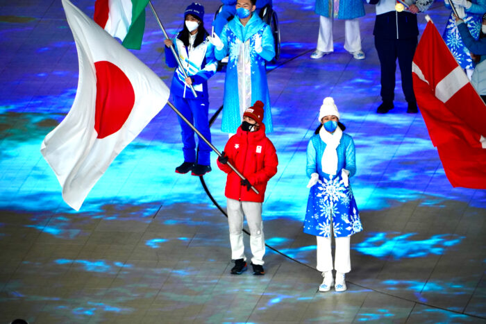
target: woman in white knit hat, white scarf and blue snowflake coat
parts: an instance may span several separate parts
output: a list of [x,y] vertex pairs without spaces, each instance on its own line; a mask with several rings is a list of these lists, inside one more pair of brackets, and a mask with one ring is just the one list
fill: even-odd
[[[351,271],[351,235],[362,230],[349,178],[356,173],[353,138],[343,133],[334,99],[324,99],[319,111],[321,125],[307,146],[306,173],[310,188],[303,232],[317,237],[317,270],[324,280],[319,291],[346,290],[345,274]],[[331,236],[335,237],[335,262]]]

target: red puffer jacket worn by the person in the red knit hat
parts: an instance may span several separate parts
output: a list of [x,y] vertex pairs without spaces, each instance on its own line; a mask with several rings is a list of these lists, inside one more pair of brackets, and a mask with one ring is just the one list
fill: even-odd
[[256,132],[245,132],[241,126],[238,127],[237,133],[226,143],[224,153],[229,157],[228,162],[260,192],[256,194],[253,189],[246,190],[241,185],[241,178],[228,164],[217,161],[219,169],[228,173],[225,196],[237,201],[262,203],[267,182],[277,173],[278,165],[274,144],[265,136],[265,125],[262,124]]

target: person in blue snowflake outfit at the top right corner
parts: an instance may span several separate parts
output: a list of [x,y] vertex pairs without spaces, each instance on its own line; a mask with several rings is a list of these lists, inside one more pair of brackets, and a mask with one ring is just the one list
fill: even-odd
[[[481,31],[481,23],[483,14],[486,12],[486,0],[450,0],[452,1],[455,9],[465,23],[464,26],[469,28],[471,35],[475,40],[478,39]],[[444,1],[446,8],[451,9],[449,0]],[[446,28],[444,29],[444,42],[451,50],[455,60],[458,61],[460,67],[466,70],[467,77],[471,79],[471,75],[474,71],[474,62],[469,55],[469,49],[465,46],[462,37],[459,35],[458,28],[455,26],[454,13],[451,10],[451,15],[447,20]]]

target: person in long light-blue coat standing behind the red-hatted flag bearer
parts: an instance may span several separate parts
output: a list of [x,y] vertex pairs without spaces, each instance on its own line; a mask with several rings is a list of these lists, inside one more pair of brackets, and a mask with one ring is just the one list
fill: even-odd
[[258,100],[264,104],[265,132],[273,130],[266,62],[275,56],[274,36],[270,26],[255,13],[255,3],[237,0],[237,18],[224,26],[221,38],[216,33],[210,37],[217,60],[228,56],[221,122],[225,133],[235,134],[243,112]]

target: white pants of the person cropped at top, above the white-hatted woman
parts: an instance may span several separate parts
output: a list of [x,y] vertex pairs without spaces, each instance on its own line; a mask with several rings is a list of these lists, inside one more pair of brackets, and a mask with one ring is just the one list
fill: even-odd
[[[319,37],[317,49],[322,52],[334,51],[333,18],[319,16]],[[360,21],[358,18],[344,21],[344,49],[353,53],[361,49]]]

